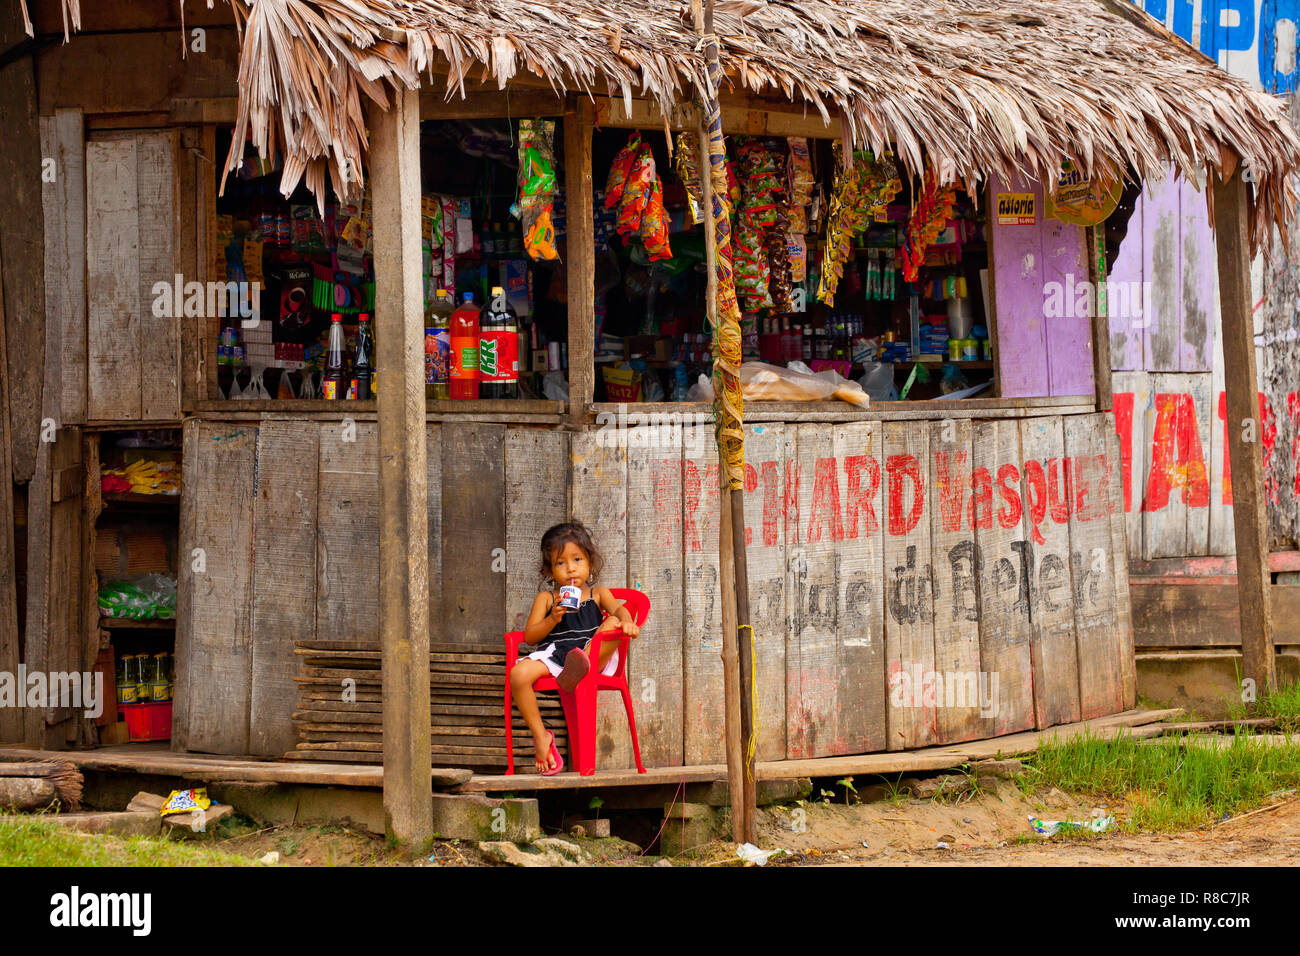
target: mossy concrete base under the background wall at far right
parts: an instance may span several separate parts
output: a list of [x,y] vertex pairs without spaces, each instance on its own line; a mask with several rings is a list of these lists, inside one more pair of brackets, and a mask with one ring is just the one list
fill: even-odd
[[[1138,693],[1161,706],[1183,708],[1187,719],[1230,717],[1242,701],[1236,650],[1139,650]],[[1300,680],[1300,650],[1278,650],[1278,682]],[[1258,688],[1257,688],[1258,692]]]

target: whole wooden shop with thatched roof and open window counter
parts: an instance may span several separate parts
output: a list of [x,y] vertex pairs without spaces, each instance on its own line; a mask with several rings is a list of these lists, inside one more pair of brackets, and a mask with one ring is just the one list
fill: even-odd
[[[1213,196],[1242,648],[1247,675],[1274,683],[1247,282],[1251,250],[1286,226],[1300,139],[1271,98],[1100,4],[719,1],[728,142],[892,151],[913,198],[927,176],[958,183],[983,216],[988,290],[970,298],[992,343],[968,365],[991,380],[976,397],[746,402],[744,489],[723,494],[711,403],[619,402],[598,375],[594,190],[612,130],[658,148],[701,129],[688,5],[488,3],[450,20],[446,4],[380,0],[218,7],[186,9],[182,34],[170,0],[27,0],[31,27],[10,4],[0,33],[6,129],[46,160],[0,161],[3,219],[32,233],[0,235],[0,563],[21,511],[23,561],[5,568],[26,574],[0,575],[0,671],[99,658],[112,674],[101,652],[126,644],[96,589],[140,564],[125,531],[136,557],[95,557],[120,503],[100,455],[118,447],[105,436],[172,429],[182,490],[157,558],[177,580],[172,750],[382,763],[403,839],[428,836],[430,767],[504,769],[502,633],[521,628],[541,535],[567,515],[593,529],[601,583],[650,596],[628,676],[660,777],[728,760],[719,540],[733,514],[768,775],[1126,711],[1132,453],[1115,433],[1132,411],[1112,380],[1115,319],[1045,304],[1053,284],[1105,282],[1124,212],[1095,228],[1049,216],[1069,160],[1134,190],[1171,165],[1202,183],[1196,202]],[[562,259],[545,274],[567,368],[541,351],[567,398],[429,398],[421,177],[477,160],[421,122],[515,137],[521,117],[558,122]],[[377,401],[231,398],[222,316],[151,308],[157,282],[230,278],[220,209],[239,170],[263,172],[255,152],[304,217],[368,190]],[[836,170],[819,177],[829,204]],[[731,496],[742,510],[723,507]],[[564,744],[558,708],[542,713]],[[0,709],[0,736],[29,747],[105,735],[70,708]],[[519,721],[515,737],[526,762]],[[601,702],[597,753],[597,778],[632,766],[621,705]],[[547,786],[571,780],[585,783]]]

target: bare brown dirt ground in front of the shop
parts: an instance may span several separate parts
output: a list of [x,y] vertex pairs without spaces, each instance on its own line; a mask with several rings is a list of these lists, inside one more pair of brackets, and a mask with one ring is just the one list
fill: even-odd
[[[1014,784],[1001,783],[970,799],[767,808],[760,812],[759,843],[788,851],[768,864],[777,866],[1244,866],[1300,860],[1300,799],[1295,797],[1208,830],[1179,834],[1112,832],[1048,840],[1028,825],[1031,813],[1040,819],[1086,821],[1096,810],[1114,814],[1121,823],[1127,816],[1123,803],[1098,806],[1057,790],[1026,799]],[[649,865],[656,860],[638,857],[632,844],[581,843],[593,856],[606,857],[598,865]],[[214,845],[254,860],[276,852],[281,866],[410,865],[390,853],[381,839],[343,827],[248,830]],[[474,844],[463,842],[438,842],[433,857],[415,865],[490,865]],[[734,845],[719,842],[673,862],[718,866],[734,860]]]

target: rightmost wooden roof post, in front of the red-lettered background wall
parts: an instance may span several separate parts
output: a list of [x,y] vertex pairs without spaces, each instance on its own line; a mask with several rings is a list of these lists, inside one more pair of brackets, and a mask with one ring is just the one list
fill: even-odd
[[1227,447],[1232,472],[1236,532],[1236,588],[1242,615],[1242,658],[1256,693],[1277,685],[1273,610],[1269,604],[1269,525],[1264,515],[1264,455],[1260,450],[1260,386],[1254,368],[1251,308],[1249,186],[1240,173],[1214,174],[1219,311],[1223,316],[1223,380],[1227,392]]

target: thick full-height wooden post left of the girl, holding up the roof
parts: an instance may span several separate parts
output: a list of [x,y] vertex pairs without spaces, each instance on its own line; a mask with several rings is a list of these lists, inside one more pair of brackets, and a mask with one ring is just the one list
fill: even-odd
[[374,345],[380,418],[380,643],[384,816],[421,851],[433,836],[429,724],[429,520],[420,269],[420,94],[372,107]]

